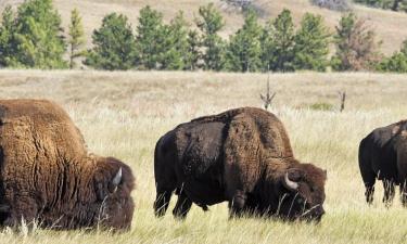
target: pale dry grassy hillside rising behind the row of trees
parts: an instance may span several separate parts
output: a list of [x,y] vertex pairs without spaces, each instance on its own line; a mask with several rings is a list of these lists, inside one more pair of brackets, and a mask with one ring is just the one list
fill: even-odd
[[[16,4],[23,0],[1,0],[0,9],[5,4],[12,3]],[[102,17],[112,12],[120,12],[126,14],[133,26],[137,25],[137,17],[139,10],[145,4],[150,4],[153,8],[160,10],[164,13],[166,20],[170,20],[179,10],[185,11],[186,16],[191,22],[196,15],[196,10],[199,5],[212,2],[209,0],[168,0],[168,1],[157,1],[157,0],[54,0],[56,8],[59,9],[65,27],[67,26],[69,20],[69,13],[73,8],[78,8],[84,16],[84,25],[88,36],[88,41],[90,42],[91,31],[99,27]],[[234,33],[242,24],[241,14],[232,11],[225,7],[220,0],[213,1],[217,7],[224,12],[226,17],[226,27],[222,30],[222,36]],[[341,16],[341,13],[329,11],[325,9],[319,9],[313,7],[308,0],[279,0],[279,1],[268,1],[268,0],[257,0],[255,1],[258,7],[265,10],[266,21],[270,17],[276,17],[283,8],[290,9],[293,12],[295,22],[300,22],[302,15],[305,12],[313,12],[321,14],[327,24],[331,27],[332,31]],[[383,52],[390,54],[399,49],[399,46],[404,39],[407,39],[407,25],[402,23],[407,23],[406,13],[396,13],[392,11],[384,11],[378,9],[366,8],[361,5],[354,5],[354,11],[361,17],[368,21],[368,24],[373,27],[379,39],[383,40],[382,50]]]

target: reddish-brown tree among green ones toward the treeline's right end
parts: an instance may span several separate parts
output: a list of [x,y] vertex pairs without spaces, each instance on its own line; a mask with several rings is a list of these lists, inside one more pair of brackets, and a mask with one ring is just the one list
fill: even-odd
[[374,31],[353,13],[342,16],[336,27],[335,46],[336,53],[332,57],[335,70],[367,70],[380,60],[380,42],[376,41]]

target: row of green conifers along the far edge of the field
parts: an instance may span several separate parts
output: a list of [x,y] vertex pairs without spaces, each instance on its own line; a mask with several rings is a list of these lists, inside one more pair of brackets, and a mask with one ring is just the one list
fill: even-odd
[[294,26],[289,10],[265,25],[254,11],[246,11],[243,26],[227,40],[219,36],[224,26],[222,15],[212,3],[199,8],[193,24],[181,11],[164,23],[163,14],[147,5],[140,10],[136,29],[123,14],[106,15],[92,34],[92,49],[85,50],[77,10],[64,34],[52,0],[28,0],[16,11],[7,7],[2,12],[0,67],[74,68],[82,62],[109,70],[407,72],[407,41],[385,57],[373,30],[352,12],[343,14],[334,33],[311,13]]

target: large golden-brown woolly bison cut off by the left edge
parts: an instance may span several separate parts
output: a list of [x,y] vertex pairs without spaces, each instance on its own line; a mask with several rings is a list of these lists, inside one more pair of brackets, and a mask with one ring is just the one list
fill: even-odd
[[55,103],[0,100],[0,224],[24,218],[55,229],[128,229],[131,169],[89,155],[79,130]]

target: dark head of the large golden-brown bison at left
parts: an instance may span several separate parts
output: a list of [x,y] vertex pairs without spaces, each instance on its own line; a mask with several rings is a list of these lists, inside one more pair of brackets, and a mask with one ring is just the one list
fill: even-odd
[[128,229],[131,224],[133,189],[131,169],[113,158],[99,158],[93,176],[96,207],[94,221],[105,228]]

